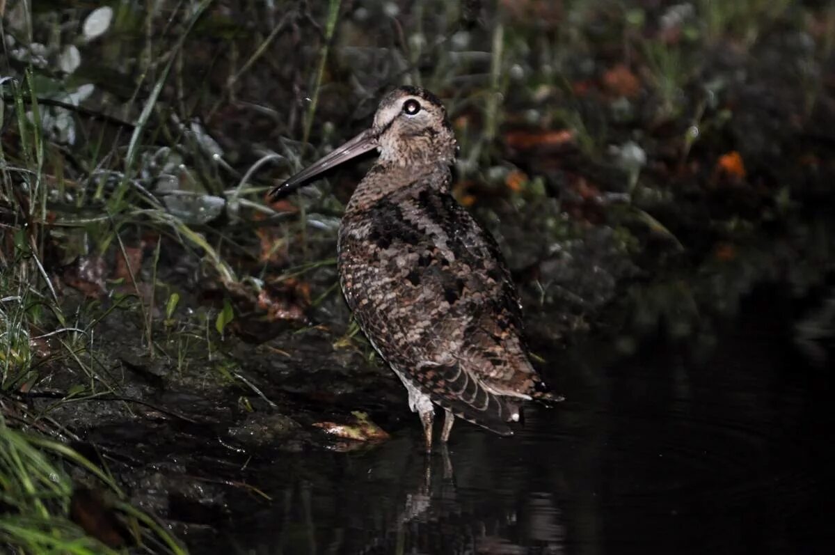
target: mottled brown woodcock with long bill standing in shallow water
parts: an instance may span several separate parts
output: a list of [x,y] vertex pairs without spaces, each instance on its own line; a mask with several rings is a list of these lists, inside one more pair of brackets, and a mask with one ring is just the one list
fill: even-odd
[[271,191],[283,196],[331,167],[379,150],[339,229],[342,291],[377,353],[406,386],[432,449],[434,405],[512,435],[519,403],[556,401],[531,366],[522,309],[493,237],[450,193],[457,145],[428,90],[387,94],[371,129]]

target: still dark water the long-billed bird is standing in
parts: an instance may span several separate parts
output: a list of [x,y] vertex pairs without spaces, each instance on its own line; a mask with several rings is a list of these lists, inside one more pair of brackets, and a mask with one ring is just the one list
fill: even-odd
[[361,453],[278,457],[259,472],[272,502],[227,522],[224,542],[251,553],[831,552],[830,371],[804,361],[769,305],[748,303],[708,357],[660,344],[618,364],[595,361],[605,344],[552,357],[569,400],[530,407],[512,438],[458,424],[427,460],[415,419]]

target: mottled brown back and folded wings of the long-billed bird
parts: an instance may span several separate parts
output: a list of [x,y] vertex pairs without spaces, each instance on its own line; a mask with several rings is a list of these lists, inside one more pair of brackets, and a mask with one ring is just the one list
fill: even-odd
[[347,302],[383,359],[439,405],[506,428],[514,406],[502,397],[529,398],[539,376],[504,257],[468,211],[417,182],[347,215],[339,257]]

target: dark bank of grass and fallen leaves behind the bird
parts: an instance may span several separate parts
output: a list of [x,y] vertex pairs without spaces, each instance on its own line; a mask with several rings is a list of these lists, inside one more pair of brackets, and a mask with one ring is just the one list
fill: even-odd
[[414,424],[337,284],[368,161],[265,198],[399,84],[444,100],[455,194],[508,257],[549,381],[590,335],[610,361],[649,338],[706,359],[755,291],[803,364],[832,364],[830,3],[0,15],[0,550],[180,552],[178,512],[266,495],[230,470],[254,453]]

